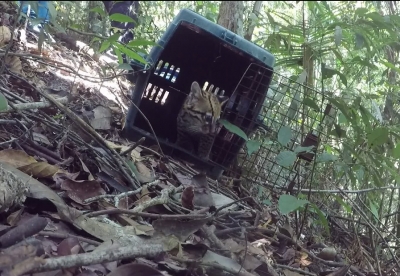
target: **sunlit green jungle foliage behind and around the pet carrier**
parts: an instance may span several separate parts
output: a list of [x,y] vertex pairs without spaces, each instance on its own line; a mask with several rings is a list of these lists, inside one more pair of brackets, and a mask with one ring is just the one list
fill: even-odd
[[[252,1],[244,5],[244,25],[255,26],[253,42],[275,55],[274,71],[287,78],[291,88],[271,83],[272,94],[268,92],[261,111],[269,131],[246,135],[229,121],[220,123],[245,140],[237,162],[244,186],[264,205],[273,204],[278,195],[281,214],[295,216],[298,225],[309,219],[318,222],[327,236],[328,218],[333,216],[352,220],[349,229],[356,233],[373,232],[375,241],[381,240],[380,233],[396,242],[400,236],[400,15],[393,3],[265,2],[259,12],[254,12]],[[30,4],[37,9],[37,1]],[[181,8],[191,8],[213,22],[218,18],[217,1],[141,5],[135,39],[128,44],[118,42],[118,34],[106,35],[106,25],[101,26],[102,35],[87,35],[90,45],[99,43],[100,53],[114,51],[119,65],[113,69],[131,70],[131,60],[145,65],[145,55],[151,47],[159,47],[155,41]],[[108,17],[103,6],[88,7],[86,1],[49,2],[46,31],[86,32],[93,22],[82,18],[89,12],[106,21],[133,20],[123,14]],[[296,85],[302,87],[301,95],[293,88]],[[313,91],[335,110],[324,129],[318,129],[325,138],[317,147],[302,145],[303,139],[295,135],[307,134],[301,129],[306,118],[300,110],[307,109],[309,118],[322,121],[324,106],[313,98]],[[285,116],[278,118],[279,124],[271,123],[282,107]],[[0,94],[0,111],[8,108],[7,98]],[[311,154],[313,159],[299,165],[300,154]],[[291,185],[290,194],[285,194]],[[377,255],[389,256],[390,249],[376,250]]]

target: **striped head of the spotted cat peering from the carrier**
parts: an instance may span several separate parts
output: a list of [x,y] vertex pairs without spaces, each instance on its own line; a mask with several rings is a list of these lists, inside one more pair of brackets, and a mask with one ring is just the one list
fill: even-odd
[[194,81],[186,100],[186,109],[193,116],[193,124],[190,127],[192,132],[214,134],[222,107],[228,99],[226,96],[203,90],[198,82]]

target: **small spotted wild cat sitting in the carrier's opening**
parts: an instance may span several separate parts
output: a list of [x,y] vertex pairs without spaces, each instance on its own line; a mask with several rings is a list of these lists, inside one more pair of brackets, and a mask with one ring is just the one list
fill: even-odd
[[221,109],[228,99],[201,89],[194,81],[178,114],[176,143],[200,158],[208,159]]

